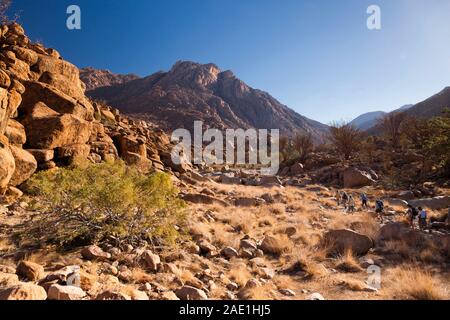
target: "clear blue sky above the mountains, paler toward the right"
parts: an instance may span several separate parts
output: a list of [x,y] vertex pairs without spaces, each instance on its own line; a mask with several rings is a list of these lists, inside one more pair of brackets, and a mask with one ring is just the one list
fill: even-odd
[[[140,76],[216,63],[329,123],[450,86],[448,0],[13,0],[33,40],[79,67]],[[66,28],[77,4],[82,30]],[[382,29],[366,27],[379,5]]]

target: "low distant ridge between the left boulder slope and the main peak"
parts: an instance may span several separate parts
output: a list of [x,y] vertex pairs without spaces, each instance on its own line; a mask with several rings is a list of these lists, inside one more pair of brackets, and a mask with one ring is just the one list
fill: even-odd
[[90,67],[80,69],[80,79],[86,85],[86,90],[122,84],[139,77],[135,74],[114,74],[109,70],[96,70]]

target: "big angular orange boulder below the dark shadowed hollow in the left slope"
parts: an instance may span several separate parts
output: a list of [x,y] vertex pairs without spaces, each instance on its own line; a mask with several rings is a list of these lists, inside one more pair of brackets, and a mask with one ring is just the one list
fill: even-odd
[[85,144],[90,136],[90,123],[72,114],[59,114],[43,103],[37,103],[22,121],[31,149],[55,149],[72,144]]

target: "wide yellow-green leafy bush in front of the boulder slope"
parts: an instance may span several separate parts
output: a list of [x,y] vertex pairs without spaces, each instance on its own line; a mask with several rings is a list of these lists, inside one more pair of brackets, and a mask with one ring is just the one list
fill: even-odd
[[184,221],[184,202],[169,175],[144,175],[123,162],[40,172],[26,190],[44,212],[27,235],[58,245],[173,242],[175,225]]

